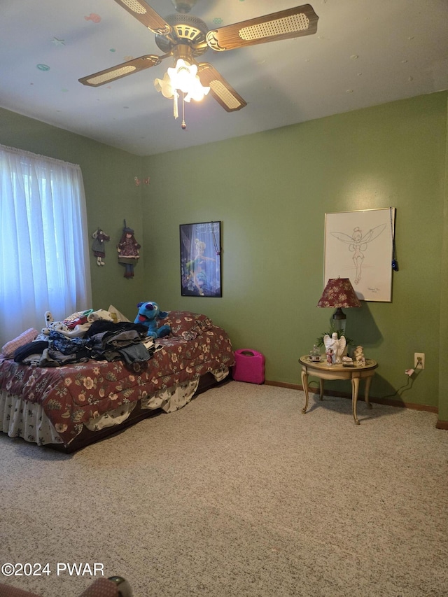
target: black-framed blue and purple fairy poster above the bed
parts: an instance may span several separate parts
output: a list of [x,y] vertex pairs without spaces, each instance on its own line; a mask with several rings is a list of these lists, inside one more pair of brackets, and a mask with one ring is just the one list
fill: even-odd
[[181,295],[221,297],[221,222],[181,224]]

